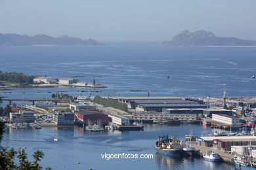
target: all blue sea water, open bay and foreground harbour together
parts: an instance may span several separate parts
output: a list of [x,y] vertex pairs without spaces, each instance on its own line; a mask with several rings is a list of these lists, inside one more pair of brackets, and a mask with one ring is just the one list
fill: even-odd
[[[160,47],[157,42],[108,42],[107,46],[0,46],[1,71],[56,78],[85,76],[82,82],[108,88],[13,88],[5,97],[45,97],[54,92],[70,95],[221,96],[256,95],[256,48]],[[167,78],[169,76],[169,78]],[[82,90],[87,92],[81,92]],[[141,92],[131,92],[141,90]],[[2,103],[5,105],[6,103]],[[200,158],[157,155],[154,143],[161,134],[183,137],[209,133],[202,126],[153,126],[144,131],[86,133],[79,127],[7,129],[2,146],[45,152],[44,167],[54,169],[234,169],[226,163]],[[54,137],[59,141],[54,142]],[[102,160],[100,154],[154,154],[153,160]],[[77,162],[81,164],[77,164]]]

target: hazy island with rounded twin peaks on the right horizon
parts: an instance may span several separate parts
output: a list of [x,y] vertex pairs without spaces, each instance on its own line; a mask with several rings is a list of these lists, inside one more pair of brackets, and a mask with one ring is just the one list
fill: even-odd
[[161,42],[160,46],[256,46],[256,41],[217,37],[205,30],[194,33],[185,30],[173,37],[171,41]]

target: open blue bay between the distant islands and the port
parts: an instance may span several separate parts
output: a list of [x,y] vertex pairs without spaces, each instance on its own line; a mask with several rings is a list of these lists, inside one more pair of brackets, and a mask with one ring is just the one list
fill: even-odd
[[[256,48],[160,47],[158,42],[108,42],[106,46],[0,46],[1,71],[56,78],[85,76],[104,84],[93,95],[256,95]],[[167,78],[169,76],[169,78]],[[87,92],[81,92],[81,90]],[[142,90],[142,92],[131,92]],[[0,92],[8,97],[89,95],[88,88],[35,88]]]

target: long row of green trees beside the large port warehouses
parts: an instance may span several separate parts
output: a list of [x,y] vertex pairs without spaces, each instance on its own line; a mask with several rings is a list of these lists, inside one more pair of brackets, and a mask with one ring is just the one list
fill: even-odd
[[119,101],[114,101],[112,99],[104,99],[98,95],[94,97],[93,102],[98,103],[100,105],[108,105],[108,106],[114,107],[116,109],[127,111],[127,105],[125,103],[121,103]]

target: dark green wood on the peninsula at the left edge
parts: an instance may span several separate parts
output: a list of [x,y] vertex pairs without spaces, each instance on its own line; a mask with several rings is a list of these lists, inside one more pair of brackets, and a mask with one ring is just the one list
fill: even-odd
[[19,84],[33,84],[33,78],[35,76],[24,75],[23,73],[16,72],[1,72],[0,71],[0,80],[7,82],[16,82]]

